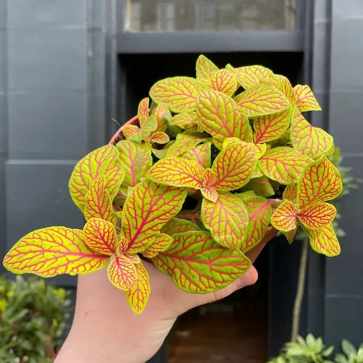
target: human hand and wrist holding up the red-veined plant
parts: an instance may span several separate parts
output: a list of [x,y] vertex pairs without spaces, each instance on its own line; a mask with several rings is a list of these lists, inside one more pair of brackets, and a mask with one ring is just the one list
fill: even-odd
[[[271,238],[267,235],[264,242]],[[263,245],[261,242],[251,251],[251,260]],[[78,277],[72,328],[55,363],[143,363],[156,353],[180,314],[257,281],[257,271],[252,266],[224,289],[189,294],[177,288],[169,276],[151,263],[145,262],[145,266],[152,291],[141,315],[131,311],[124,293],[109,283],[104,269]]]

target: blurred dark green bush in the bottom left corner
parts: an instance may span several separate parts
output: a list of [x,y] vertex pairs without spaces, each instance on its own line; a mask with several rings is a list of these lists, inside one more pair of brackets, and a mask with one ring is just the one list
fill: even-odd
[[34,277],[0,277],[0,362],[51,363],[66,328],[68,296]]

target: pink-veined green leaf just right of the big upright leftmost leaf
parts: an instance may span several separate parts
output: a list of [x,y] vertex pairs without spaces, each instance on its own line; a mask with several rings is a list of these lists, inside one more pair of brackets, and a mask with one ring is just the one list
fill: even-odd
[[126,197],[127,190],[135,187],[153,164],[150,147],[134,141],[122,140],[116,145],[120,151],[120,160],[124,166],[125,178],[120,192]]

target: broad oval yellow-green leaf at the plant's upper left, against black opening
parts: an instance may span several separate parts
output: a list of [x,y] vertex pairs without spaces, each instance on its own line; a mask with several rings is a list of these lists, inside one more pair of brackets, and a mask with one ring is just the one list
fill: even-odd
[[202,85],[194,78],[173,77],[156,82],[150,89],[150,97],[157,104],[168,104],[173,112],[195,110],[195,98]]

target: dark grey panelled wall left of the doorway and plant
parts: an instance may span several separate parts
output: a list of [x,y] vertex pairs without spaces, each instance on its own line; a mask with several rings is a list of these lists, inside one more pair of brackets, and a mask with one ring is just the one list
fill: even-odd
[[106,3],[0,1],[7,248],[35,228],[83,225],[68,179],[76,160],[106,139]]

